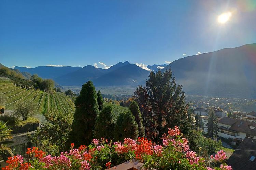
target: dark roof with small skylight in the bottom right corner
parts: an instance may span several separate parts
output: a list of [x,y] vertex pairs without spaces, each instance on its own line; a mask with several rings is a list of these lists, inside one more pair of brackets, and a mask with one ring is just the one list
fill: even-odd
[[227,160],[233,170],[256,169],[256,139],[245,137]]

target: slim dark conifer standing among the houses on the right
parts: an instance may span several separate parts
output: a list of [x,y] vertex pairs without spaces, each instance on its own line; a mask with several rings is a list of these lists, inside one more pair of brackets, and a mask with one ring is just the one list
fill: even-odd
[[211,108],[208,111],[208,120],[206,127],[208,128],[208,135],[213,137],[214,135],[218,135],[218,120],[217,116],[215,115],[215,111]]

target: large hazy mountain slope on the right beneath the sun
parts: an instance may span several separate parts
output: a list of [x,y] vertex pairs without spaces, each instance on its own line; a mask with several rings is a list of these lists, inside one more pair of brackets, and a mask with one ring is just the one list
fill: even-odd
[[170,63],[187,94],[256,98],[256,44],[188,56]]

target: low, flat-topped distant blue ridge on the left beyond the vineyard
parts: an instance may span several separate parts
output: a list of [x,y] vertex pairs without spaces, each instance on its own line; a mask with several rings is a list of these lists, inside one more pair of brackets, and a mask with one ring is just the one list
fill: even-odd
[[71,66],[64,66],[64,67],[52,67],[52,66],[38,66],[35,68],[26,68],[26,67],[18,67],[15,66],[14,69],[19,70],[20,72],[28,72],[31,75],[38,74],[40,77],[44,79],[53,79],[59,77],[61,75],[65,75],[76,70],[81,69],[81,67],[71,67]]

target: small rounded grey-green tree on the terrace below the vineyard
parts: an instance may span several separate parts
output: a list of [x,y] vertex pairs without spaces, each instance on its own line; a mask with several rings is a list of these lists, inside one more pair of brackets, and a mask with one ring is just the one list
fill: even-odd
[[37,113],[38,104],[34,103],[33,100],[27,99],[18,101],[15,104],[13,114],[16,117],[22,116],[22,120],[27,120],[28,117]]

